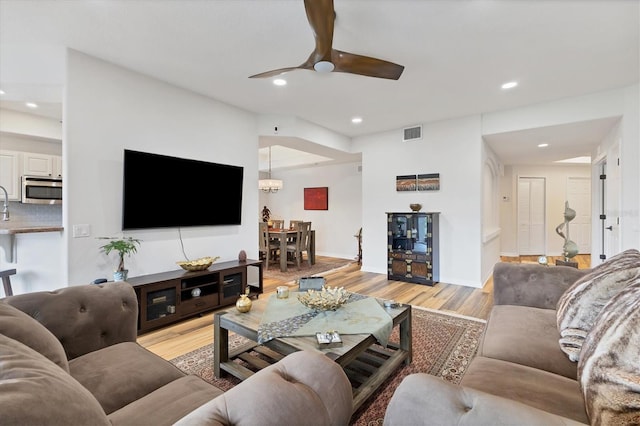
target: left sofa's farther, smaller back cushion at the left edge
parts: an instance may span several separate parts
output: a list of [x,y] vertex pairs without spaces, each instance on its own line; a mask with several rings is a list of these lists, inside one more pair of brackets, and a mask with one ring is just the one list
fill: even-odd
[[29,346],[69,372],[67,355],[56,336],[18,308],[1,302],[0,334]]

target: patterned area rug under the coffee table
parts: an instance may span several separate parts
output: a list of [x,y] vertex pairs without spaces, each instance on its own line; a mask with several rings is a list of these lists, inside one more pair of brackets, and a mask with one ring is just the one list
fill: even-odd
[[[352,426],[381,425],[389,400],[402,379],[413,373],[428,373],[458,384],[467,365],[476,353],[485,327],[485,321],[460,315],[413,307],[412,317],[413,360],[403,365],[351,417]],[[398,327],[390,341],[397,342]],[[231,348],[246,342],[241,336],[229,337]],[[196,374],[223,390],[240,383],[239,379],[213,375],[213,345],[196,349],[172,359],[171,362],[187,374]],[[426,395],[425,397],[428,397]]]

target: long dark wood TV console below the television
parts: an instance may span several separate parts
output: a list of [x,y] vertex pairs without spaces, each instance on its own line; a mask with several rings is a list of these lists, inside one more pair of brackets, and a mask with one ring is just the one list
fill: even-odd
[[[251,276],[251,278],[249,278]],[[182,269],[127,280],[138,297],[138,334],[190,316],[233,305],[249,286],[249,296],[262,293],[262,262],[214,263],[204,271]]]

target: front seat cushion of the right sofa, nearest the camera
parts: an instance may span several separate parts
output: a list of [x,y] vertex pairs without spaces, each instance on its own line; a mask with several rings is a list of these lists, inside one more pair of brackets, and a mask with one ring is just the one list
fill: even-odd
[[576,380],[525,365],[475,357],[462,385],[588,423]]

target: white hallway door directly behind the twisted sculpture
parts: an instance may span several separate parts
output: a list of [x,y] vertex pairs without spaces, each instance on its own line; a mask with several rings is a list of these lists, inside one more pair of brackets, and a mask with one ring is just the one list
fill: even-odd
[[591,253],[591,179],[583,177],[567,178],[567,201],[576,211],[576,217],[569,222],[567,237],[578,245],[582,254]]

